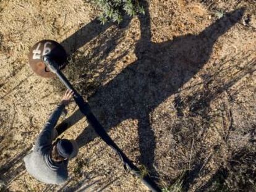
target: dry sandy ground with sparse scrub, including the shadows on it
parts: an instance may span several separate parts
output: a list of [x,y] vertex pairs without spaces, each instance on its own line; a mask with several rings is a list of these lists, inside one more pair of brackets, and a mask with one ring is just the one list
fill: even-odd
[[44,39],[67,49],[64,73],[114,141],[163,188],[255,191],[256,2],[151,0],[145,10],[101,26],[98,10],[82,0],[0,1],[5,191],[147,191],[74,103],[64,137],[78,137],[81,148],[70,180],[44,185],[24,170],[22,157],[64,93],[58,79],[28,66],[29,49]]

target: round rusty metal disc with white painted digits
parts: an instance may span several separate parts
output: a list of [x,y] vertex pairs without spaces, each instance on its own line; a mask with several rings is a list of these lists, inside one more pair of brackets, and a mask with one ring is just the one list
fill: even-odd
[[36,43],[28,54],[28,61],[32,70],[41,77],[51,78],[55,74],[50,72],[43,62],[42,56],[49,55],[59,64],[59,69],[64,69],[67,64],[67,53],[61,44],[53,40],[43,40]]

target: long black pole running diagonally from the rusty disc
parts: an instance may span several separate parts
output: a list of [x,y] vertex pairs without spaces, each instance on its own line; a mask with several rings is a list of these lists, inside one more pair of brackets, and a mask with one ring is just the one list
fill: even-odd
[[58,69],[58,65],[54,61],[51,61],[49,57],[43,58],[45,64],[48,65],[49,69],[56,73],[62,83],[68,88],[69,90],[74,91],[74,99],[77,105],[79,106],[80,111],[87,117],[88,122],[92,125],[95,129],[96,133],[101,137],[106,144],[108,144],[116,153],[119,155],[121,161],[124,164],[124,169],[132,171],[137,177],[142,177],[142,182],[153,192],[161,191],[158,185],[156,185],[153,180],[149,177],[149,175],[142,175],[140,170],[128,159],[126,154],[122,152],[122,150],[117,146],[116,143],[111,139],[111,137],[106,133],[105,129],[102,127],[100,122],[96,119],[95,115],[93,115],[92,111],[90,110],[90,106],[87,102],[85,102],[82,96],[75,90],[75,88],[71,85],[69,80],[65,77],[65,75]]

